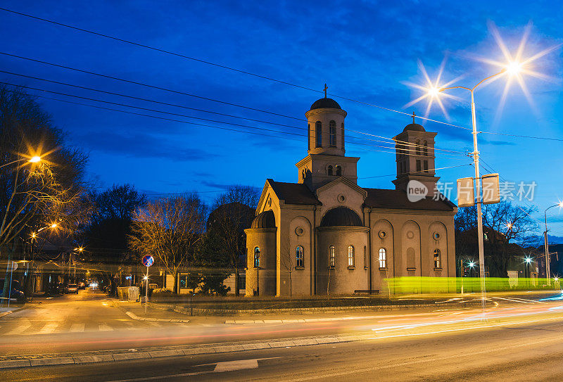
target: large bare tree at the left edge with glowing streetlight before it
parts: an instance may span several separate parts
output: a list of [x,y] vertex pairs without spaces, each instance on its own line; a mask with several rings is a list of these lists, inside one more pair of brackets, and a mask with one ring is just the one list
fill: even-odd
[[[42,160],[28,162],[33,156]],[[33,227],[56,223],[70,232],[77,223],[85,162],[31,96],[0,87],[0,257],[7,249],[8,264]]]

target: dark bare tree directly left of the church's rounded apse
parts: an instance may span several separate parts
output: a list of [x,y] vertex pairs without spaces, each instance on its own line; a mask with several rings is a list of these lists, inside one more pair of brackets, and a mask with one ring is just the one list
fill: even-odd
[[246,235],[244,229],[251,227],[258,204],[258,192],[254,187],[232,186],[213,203],[213,212],[208,219],[208,234],[223,248],[235,272],[235,295],[239,295],[239,274],[245,267]]

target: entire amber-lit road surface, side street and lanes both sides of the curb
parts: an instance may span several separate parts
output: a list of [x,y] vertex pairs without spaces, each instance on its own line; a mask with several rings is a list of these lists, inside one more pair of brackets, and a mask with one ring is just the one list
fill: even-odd
[[[509,303],[509,302],[507,302]],[[372,333],[350,343],[0,371],[4,381],[563,380],[563,300],[286,324],[135,321],[103,295],[49,300],[0,319],[1,355]],[[7,317],[9,317],[7,316]],[[47,318],[47,321],[45,319]],[[5,317],[6,318],[6,317]],[[129,324],[127,324],[129,322]],[[80,324],[80,326],[79,326]],[[49,326],[50,325],[50,326]],[[56,325],[56,326],[55,326]],[[101,326],[106,325],[106,326]],[[47,329],[45,329],[47,328]],[[75,331],[72,331],[74,328]],[[80,329],[80,331],[76,331]],[[113,329],[113,330],[109,330]],[[50,333],[45,333],[51,331]],[[139,340],[145,336],[148,340]],[[65,341],[66,345],[65,345]],[[119,342],[115,342],[119,341]]]

